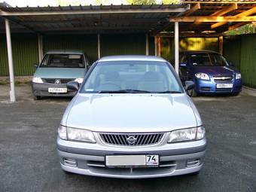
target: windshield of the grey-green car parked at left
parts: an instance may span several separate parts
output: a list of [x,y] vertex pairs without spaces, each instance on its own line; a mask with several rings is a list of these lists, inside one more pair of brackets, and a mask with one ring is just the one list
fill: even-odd
[[84,68],[84,59],[81,54],[47,54],[40,67]]

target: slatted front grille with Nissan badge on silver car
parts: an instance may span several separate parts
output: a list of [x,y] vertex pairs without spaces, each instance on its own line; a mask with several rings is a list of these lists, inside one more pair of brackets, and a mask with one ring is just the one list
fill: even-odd
[[108,145],[142,146],[156,145],[163,139],[164,133],[99,133]]

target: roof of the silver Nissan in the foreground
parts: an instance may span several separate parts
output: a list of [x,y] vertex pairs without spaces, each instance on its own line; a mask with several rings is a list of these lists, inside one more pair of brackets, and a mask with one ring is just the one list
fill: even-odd
[[123,56],[103,56],[98,62],[107,62],[107,61],[157,61],[157,62],[166,62],[166,59],[163,59],[158,56],[144,56],[144,55],[123,55]]

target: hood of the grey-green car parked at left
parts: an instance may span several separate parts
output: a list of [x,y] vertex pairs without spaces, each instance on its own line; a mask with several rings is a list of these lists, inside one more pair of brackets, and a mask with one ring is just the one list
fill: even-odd
[[84,68],[38,68],[35,77],[38,78],[84,78]]

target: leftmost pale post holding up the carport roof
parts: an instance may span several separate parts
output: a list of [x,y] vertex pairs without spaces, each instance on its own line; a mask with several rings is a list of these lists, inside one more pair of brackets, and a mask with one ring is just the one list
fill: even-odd
[[8,50],[8,65],[9,65],[9,75],[10,75],[10,101],[15,102],[15,88],[14,88],[14,63],[11,50],[11,32],[10,32],[10,23],[9,20],[5,19],[5,31],[6,31],[6,42]]

